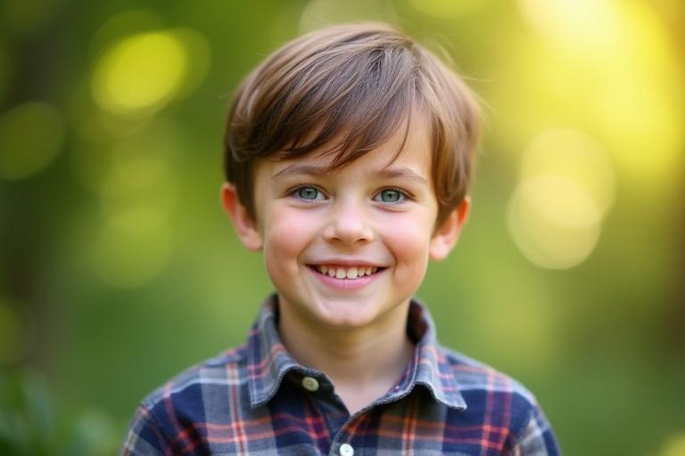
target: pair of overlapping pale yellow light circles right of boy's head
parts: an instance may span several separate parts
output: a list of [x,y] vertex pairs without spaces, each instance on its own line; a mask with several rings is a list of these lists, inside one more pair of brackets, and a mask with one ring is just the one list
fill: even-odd
[[580,130],[538,134],[524,150],[508,203],[509,232],[534,265],[567,269],[596,247],[615,199],[615,170],[602,146]]

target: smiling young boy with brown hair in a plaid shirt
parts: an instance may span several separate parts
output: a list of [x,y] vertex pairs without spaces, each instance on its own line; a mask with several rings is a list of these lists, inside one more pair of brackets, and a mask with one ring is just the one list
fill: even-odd
[[516,381],[412,296],[466,220],[474,95],[383,25],[270,55],[227,119],[223,203],[276,293],[247,342],[140,405],[123,454],[552,455]]

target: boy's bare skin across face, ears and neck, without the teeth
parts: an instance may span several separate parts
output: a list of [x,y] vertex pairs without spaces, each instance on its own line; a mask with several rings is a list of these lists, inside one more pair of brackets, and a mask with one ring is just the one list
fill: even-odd
[[[326,372],[351,413],[400,379],[413,355],[405,333],[409,300],[429,259],[448,256],[469,210],[465,199],[434,226],[429,127],[415,118],[405,150],[392,162],[401,134],[334,172],[323,171],[328,158],[316,153],[260,160],[257,221],[232,185],[222,190],[243,244],[263,253],[285,347],[301,364]],[[321,265],[377,272],[355,282],[327,277]]]

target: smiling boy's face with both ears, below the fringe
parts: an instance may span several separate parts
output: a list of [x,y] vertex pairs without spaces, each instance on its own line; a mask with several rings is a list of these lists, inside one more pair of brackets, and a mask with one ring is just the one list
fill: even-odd
[[[412,123],[333,172],[311,154],[261,160],[254,170],[257,223],[225,187],[224,201],[248,248],[263,250],[281,312],[318,329],[379,328],[403,321],[429,257],[442,259],[466,218],[465,201],[435,227],[430,131]],[[391,164],[392,162],[392,164]]]

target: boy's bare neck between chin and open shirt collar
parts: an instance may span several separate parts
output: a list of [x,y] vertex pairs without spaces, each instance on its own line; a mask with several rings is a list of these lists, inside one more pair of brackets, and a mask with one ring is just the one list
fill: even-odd
[[409,301],[383,322],[363,328],[330,328],[307,322],[282,306],[278,330],[293,358],[326,373],[348,411],[383,396],[401,377],[414,353],[407,337]]

